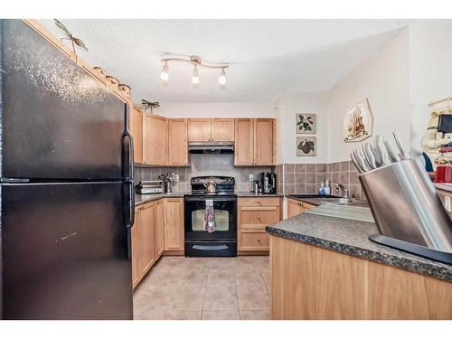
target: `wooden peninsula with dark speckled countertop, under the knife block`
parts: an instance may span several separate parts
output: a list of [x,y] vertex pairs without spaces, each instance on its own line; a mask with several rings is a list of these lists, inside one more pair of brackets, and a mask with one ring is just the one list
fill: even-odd
[[452,319],[452,266],[373,243],[374,223],[319,209],[266,227],[272,319]]

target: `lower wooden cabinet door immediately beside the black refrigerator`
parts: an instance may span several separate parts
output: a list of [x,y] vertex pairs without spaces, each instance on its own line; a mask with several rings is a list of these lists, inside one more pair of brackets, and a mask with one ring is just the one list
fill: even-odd
[[138,267],[143,277],[155,262],[155,202],[146,203],[140,214],[141,251]]

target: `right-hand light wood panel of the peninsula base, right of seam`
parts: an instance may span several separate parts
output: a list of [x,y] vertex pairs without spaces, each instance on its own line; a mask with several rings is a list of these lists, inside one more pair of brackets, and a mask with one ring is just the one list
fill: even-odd
[[369,262],[372,319],[452,319],[452,283]]

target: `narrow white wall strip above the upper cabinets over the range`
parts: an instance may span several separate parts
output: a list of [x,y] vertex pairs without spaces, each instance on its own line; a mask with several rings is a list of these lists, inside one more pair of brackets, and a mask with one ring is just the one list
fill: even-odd
[[167,118],[275,118],[273,103],[184,102],[161,103],[155,113]]

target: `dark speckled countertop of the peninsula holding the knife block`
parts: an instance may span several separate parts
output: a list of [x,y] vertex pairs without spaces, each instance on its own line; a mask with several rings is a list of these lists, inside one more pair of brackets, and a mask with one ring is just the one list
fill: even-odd
[[267,226],[266,231],[278,237],[452,282],[452,265],[393,250],[369,240],[370,235],[378,232],[376,225],[372,222],[339,219],[305,212]]

